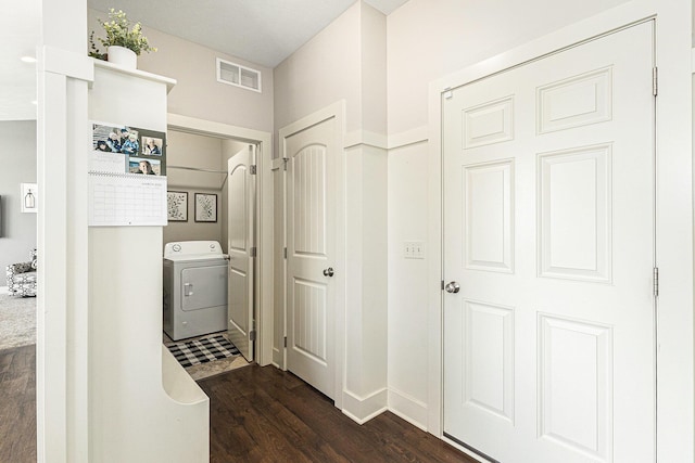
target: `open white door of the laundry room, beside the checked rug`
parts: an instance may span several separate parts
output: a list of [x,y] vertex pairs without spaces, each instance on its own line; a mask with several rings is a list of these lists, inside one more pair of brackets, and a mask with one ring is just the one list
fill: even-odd
[[229,339],[249,361],[253,360],[254,326],[254,217],[255,146],[240,151],[227,162],[227,230],[229,280],[227,329]]

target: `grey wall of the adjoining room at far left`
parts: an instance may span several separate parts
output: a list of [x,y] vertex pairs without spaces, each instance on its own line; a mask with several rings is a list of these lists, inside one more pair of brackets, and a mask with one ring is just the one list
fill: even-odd
[[[36,247],[36,214],[22,213],[20,183],[36,183],[36,121],[0,123],[0,272],[29,260]],[[0,280],[0,286],[7,283]]]

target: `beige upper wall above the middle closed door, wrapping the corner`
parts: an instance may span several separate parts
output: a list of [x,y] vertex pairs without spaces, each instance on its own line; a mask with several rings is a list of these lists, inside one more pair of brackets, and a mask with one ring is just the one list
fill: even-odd
[[275,129],[339,100],[346,130],[386,134],[386,16],[356,2],[275,69]]

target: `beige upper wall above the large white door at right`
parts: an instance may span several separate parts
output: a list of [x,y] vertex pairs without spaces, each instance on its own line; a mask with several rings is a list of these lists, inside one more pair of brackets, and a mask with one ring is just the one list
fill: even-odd
[[389,134],[427,124],[428,83],[627,0],[409,0],[388,17]]

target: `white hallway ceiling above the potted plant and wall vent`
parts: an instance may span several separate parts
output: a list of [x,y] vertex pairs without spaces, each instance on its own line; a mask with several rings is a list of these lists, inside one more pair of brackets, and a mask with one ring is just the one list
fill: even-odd
[[[407,0],[365,0],[384,14]],[[173,36],[275,67],[340,16],[355,0],[88,0]],[[105,18],[105,16],[103,17]]]

